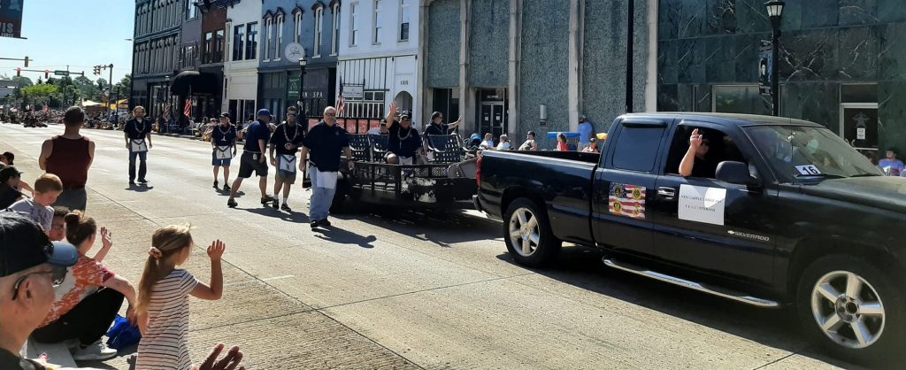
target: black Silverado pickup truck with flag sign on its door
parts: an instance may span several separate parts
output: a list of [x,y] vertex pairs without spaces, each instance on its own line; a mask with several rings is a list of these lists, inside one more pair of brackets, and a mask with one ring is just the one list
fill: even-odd
[[[849,360],[906,349],[906,180],[834,132],[757,115],[626,114],[601,152],[482,154],[476,207],[503,219],[516,262],[543,266],[563,242],[602,248],[611,268],[792,305]],[[687,177],[684,158],[697,168]]]

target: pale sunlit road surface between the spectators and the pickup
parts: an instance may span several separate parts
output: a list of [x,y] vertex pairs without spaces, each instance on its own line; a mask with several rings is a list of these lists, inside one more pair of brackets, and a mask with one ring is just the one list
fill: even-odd
[[[33,181],[41,142],[60,132],[3,124],[0,151]],[[117,273],[138,283],[164,225],[198,228],[186,268],[202,280],[203,248],[226,241],[224,297],[191,301],[194,359],[226,342],[250,369],[853,367],[815,354],[784,311],[605,268],[592,249],[565,247],[544,270],[517,266],[502,224],[474,211],[361,208],[312,232],[299,185],[298,213],[263,209],[256,181],[228,209],[211,188],[207,142],[155,136],[150,183],[130,188],[121,132],[83,133],[97,143],[88,213],[114,233],[106,262]]]

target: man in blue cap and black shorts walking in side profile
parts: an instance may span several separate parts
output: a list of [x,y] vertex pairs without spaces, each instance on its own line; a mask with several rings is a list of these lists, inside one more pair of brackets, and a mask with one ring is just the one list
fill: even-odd
[[274,198],[267,195],[267,158],[265,150],[267,141],[271,139],[271,130],[267,127],[271,122],[271,112],[262,109],[258,111],[258,119],[248,126],[246,131],[246,145],[243,146],[242,157],[239,158],[239,176],[233,181],[233,188],[229,193],[229,200],[226,200],[226,206],[235,208],[236,192],[242,186],[242,180],[252,177],[255,172],[261,180],[258,180],[258,189],[261,190],[261,204],[267,205]]

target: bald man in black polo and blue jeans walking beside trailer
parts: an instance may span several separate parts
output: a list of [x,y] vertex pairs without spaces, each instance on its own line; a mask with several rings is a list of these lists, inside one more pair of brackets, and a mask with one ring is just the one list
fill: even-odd
[[304,170],[304,165],[311,153],[311,166],[309,176],[312,178],[312,199],[309,200],[309,219],[312,229],[318,226],[329,227],[331,221],[327,219],[330,214],[333,193],[336,192],[337,174],[340,171],[340,150],[346,154],[349,170],[353,169],[352,150],[349,148],[349,138],[346,130],[336,125],[337,111],[333,107],[324,109],[324,118],[315,124],[305,135],[302,147],[302,161],[299,161],[299,170]]

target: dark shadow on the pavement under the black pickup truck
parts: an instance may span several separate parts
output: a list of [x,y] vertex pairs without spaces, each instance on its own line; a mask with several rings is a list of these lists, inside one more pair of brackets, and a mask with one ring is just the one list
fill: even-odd
[[[737,304],[683,287],[640,277],[603,265],[604,253],[593,248],[564,246],[552,266],[526,268],[539,275],[607,297],[650,308],[702,326],[747,338],[765,346],[805,355],[831,365],[858,368],[817,352],[817,346],[801,333],[795,311],[763,309]],[[509,254],[497,256],[516,264]]]

